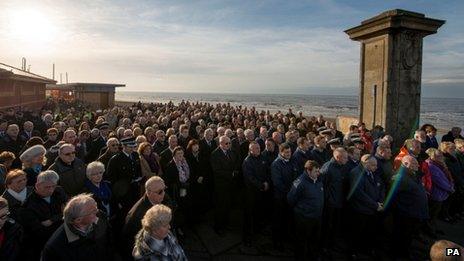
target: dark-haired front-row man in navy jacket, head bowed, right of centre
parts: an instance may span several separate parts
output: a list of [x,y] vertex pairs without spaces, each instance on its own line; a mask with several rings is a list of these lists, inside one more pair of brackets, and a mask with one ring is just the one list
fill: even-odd
[[295,259],[317,260],[320,252],[324,189],[319,180],[319,164],[308,160],[301,176],[287,195],[295,215]]

